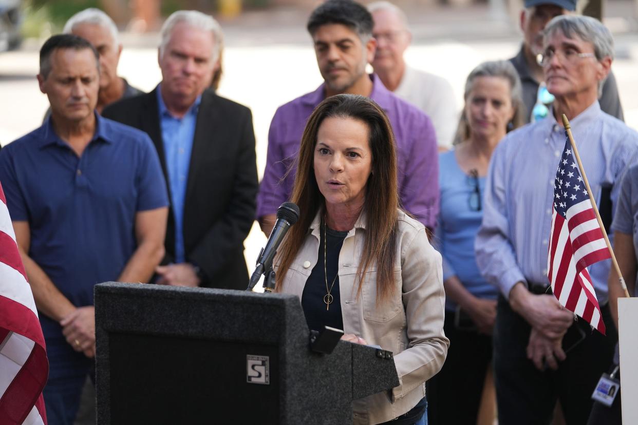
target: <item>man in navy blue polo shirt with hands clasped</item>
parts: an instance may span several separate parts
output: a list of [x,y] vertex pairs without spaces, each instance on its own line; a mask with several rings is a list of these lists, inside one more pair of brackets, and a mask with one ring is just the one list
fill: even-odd
[[48,423],[72,424],[95,352],[93,286],[147,282],[164,254],[168,197],[141,131],[94,112],[98,53],[70,34],[40,50],[51,116],[0,152],[0,182],[50,364]]

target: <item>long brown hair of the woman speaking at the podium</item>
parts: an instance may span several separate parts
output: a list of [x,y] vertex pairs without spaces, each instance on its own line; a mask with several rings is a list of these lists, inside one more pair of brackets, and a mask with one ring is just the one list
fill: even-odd
[[329,117],[359,120],[369,129],[372,173],[367,180],[363,207],[366,213],[366,236],[357,269],[357,296],[361,292],[366,271],[371,264],[376,263],[378,303],[389,299],[394,288],[399,208],[396,146],[392,127],[383,110],[371,99],[353,94],[338,94],[325,99],[310,115],[304,129],[291,199],[299,205],[299,222],[290,228],[279,249],[276,290],[281,291],[288,268],[304,244],[316,213],[325,208],[325,199],[315,178],[314,155],[319,127]]

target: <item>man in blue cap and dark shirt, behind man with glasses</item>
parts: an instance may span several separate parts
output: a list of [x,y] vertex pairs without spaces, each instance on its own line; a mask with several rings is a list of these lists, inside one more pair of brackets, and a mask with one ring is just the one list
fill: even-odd
[[[521,31],[523,31],[523,45],[519,53],[510,59],[514,68],[521,77],[523,84],[523,104],[526,108],[526,120],[530,122],[532,111],[540,101],[541,104],[552,102],[551,95],[544,92],[545,96],[538,96],[540,82],[544,81],[543,69],[537,62],[537,55],[541,53],[543,42],[543,29],[552,18],[576,10],[576,0],[525,0],[525,8],[521,11]],[[540,99],[539,99],[540,97]],[[623,108],[618,97],[618,87],[613,73],[609,73],[607,80],[599,93],[600,109],[619,120],[624,120]],[[538,118],[547,113],[547,108],[542,108]]]

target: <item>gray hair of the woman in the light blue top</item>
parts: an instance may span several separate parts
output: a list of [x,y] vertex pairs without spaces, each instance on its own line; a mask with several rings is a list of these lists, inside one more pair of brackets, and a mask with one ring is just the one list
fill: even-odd
[[[525,124],[525,108],[523,106],[523,89],[521,87],[521,78],[519,78],[518,72],[512,62],[510,61],[489,61],[482,62],[476,68],[472,69],[468,79],[465,82],[465,91],[463,92],[463,99],[467,102],[470,92],[474,88],[475,80],[480,76],[494,76],[498,78],[504,78],[510,85],[510,101],[512,102],[512,108],[514,108],[514,117],[512,118],[511,126],[508,125],[506,131],[511,131]],[[456,130],[456,136],[454,137],[454,145],[461,143],[461,141],[468,140],[470,138],[470,126],[468,125],[468,118],[465,115],[465,108],[461,112],[461,120],[459,120],[459,127]]]

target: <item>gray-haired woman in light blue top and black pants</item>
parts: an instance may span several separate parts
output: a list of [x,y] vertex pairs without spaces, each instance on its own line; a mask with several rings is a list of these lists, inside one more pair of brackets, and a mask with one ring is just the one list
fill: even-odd
[[435,243],[443,256],[448,357],[427,389],[430,425],[477,422],[498,291],[480,275],[474,240],[483,217],[489,159],[507,131],[523,124],[521,82],[507,61],[468,76],[455,148],[439,157],[441,208]]

